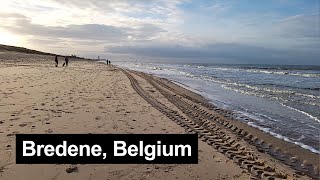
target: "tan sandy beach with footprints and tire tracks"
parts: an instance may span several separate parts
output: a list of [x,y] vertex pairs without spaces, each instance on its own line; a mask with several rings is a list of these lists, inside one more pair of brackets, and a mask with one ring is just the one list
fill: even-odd
[[[90,60],[0,52],[0,179],[317,179],[318,154],[166,79]],[[18,165],[19,133],[197,133],[199,164]],[[68,173],[68,168],[76,169]]]

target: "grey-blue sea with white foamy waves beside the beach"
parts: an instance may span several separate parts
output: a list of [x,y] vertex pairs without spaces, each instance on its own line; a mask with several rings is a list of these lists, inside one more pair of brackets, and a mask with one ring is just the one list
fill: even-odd
[[242,117],[239,121],[320,154],[320,66],[116,65],[167,78],[218,107],[233,110]]

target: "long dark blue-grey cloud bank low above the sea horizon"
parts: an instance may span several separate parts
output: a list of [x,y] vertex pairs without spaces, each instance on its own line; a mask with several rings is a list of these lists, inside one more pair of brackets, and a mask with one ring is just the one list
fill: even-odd
[[[262,64],[319,64],[318,52],[278,50],[243,44],[218,43],[202,47],[179,45],[162,46],[113,46],[106,47],[106,52],[134,54],[162,58],[192,58],[199,62],[210,62],[210,59],[232,59],[238,63]],[[302,59],[304,61],[302,61]],[[234,62],[234,61],[233,61]],[[225,62],[226,63],[226,62]]]

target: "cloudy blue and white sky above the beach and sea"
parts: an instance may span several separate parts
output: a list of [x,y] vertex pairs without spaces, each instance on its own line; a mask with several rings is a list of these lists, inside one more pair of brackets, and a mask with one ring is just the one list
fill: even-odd
[[115,61],[320,65],[320,0],[0,1],[0,44]]

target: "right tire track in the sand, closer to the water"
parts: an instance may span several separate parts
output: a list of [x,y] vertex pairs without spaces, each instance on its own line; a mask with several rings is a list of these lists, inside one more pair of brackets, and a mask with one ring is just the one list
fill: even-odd
[[[275,159],[280,160],[282,163],[290,166],[294,170],[297,170],[299,174],[306,174],[314,179],[319,179],[319,170],[317,166],[313,166],[311,164],[306,164],[301,160],[292,157],[292,155],[287,154],[285,152],[281,152],[278,149],[272,147],[271,144],[267,144],[261,139],[254,137],[249,132],[237,127],[231,121],[227,121],[220,117],[224,116],[226,118],[233,118],[233,113],[228,110],[223,110],[220,108],[216,108],[211,104],[202,103],[199,100],[187,96],[176,89],[166,85],[165,83],[153,78],[149,75],[135,72],[134,74],[140,76],[145,79],[148,83],[153,85],[163,96],[165,96],[172,104],[177,106],[183,113],[185,113],[191,119],[197,121],[199,124],[205,123],[205,121],[210,120],[211,122],[215,121],[216,125],[218,125],[221,129],[227,129],[229,132],[236,135],[238,138],[241,138],[248,142],[249,144],[255,146],[258,151],[262,151],[264,153],[268,153]],[[177,96],[179,95],[179,96]],[[212,113],[212,110],[217,113]],[[205,129],[210,130],[210,127],[203,126]],[[234,142],[233,142],[234,144]],[[303,173],[300,173],[303,172]]]

